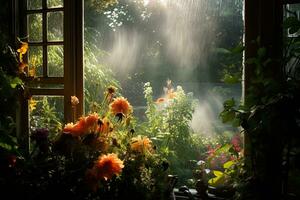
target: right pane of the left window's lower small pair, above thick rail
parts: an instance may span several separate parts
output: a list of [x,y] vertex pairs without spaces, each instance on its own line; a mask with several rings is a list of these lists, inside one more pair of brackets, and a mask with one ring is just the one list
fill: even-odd
[[48,75],[64,76],[64,49],[62,45],[48,46]]

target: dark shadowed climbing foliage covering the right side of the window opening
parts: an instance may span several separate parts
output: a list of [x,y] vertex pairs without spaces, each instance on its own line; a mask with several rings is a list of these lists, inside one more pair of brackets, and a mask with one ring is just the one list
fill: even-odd
[[[289,17],[283,27],[288,29],[287,33],[294,34],[284,37],[284,56],[280,60],[270,59],[267,48],[261,46],[257,38],[257,55],[246,60],[253,66],[253,76],[245,103],[237,105],[229,99],[224,102],[224,111],[220,114],[223,122],[242,126],[248,138],[246,145],[250,157],[246,160],[246,171],[239,175],[242,179],[236,179],[237,199],[262,198],[265,194],[261,184],[276,184],[276,181],[272,183],[271,171],[276,171],[280,177],[278,180],[284,188],[282,195],[286,198],[289,176],[297,169],[294,158],[299,149],[300,85],[299,35],[295,33],[299,20]],[[280,68],[274,69],[276,63]],[[291,163],[294,163],[293,168]]]

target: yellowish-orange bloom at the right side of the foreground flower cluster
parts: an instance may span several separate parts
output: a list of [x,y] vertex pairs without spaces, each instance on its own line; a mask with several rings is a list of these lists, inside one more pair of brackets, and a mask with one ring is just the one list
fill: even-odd
[[132,138],[131,149],[139,153],[151,152],[152,141],[148,137],[137,136]]

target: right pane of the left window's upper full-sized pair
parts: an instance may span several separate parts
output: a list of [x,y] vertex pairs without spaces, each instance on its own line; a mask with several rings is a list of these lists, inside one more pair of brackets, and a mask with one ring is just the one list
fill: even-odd
[[48,22],[48,41],[62,41],[63,40],[63,12],[49,12],[47,13]]

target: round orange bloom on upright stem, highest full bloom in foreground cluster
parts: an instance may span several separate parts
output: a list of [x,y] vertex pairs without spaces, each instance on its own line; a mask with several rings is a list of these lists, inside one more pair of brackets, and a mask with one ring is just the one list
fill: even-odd
[[124,97],[118,97],[110,104],[110,111],[114,114],[128,115],[132,112],[130,103]]

